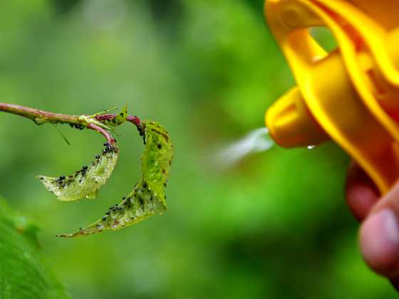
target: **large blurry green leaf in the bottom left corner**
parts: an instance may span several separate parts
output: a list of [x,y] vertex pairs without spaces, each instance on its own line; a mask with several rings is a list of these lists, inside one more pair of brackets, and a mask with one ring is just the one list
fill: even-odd
[[43,262],[36,231],[0,199],[0,298],[68,298]]

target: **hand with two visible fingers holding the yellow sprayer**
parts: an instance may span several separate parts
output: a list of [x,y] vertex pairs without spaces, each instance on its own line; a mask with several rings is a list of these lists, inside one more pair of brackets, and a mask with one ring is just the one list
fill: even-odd
[[346,181],[346,201],[361,221],[359,243],[364,260],[399,290],[399,184],[380,198],[366,172],[353,163]]

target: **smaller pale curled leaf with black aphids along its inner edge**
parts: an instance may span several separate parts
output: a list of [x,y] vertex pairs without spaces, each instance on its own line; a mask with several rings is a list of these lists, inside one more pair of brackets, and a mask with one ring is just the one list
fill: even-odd
[[89,166],[83,166],[74,174],[65,177],[38,176],[46,189],[56,194],[61,201],[76,201],[78,199],[93,199],[110,177],[118,160],[119,149],[115,142],[104,143],[101,154]]

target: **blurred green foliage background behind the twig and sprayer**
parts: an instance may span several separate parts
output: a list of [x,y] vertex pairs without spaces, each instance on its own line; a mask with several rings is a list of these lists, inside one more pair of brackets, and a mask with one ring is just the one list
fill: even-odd
[[[1,101],[69,114],[128,103],[175,144],[162,216],[59,239],[98,219],[140,177],[142,142],[120,127],[98,199],[58,202],[36,174],[68,174],[102,150],[94,132],[1,114],[1,196],[40,227],[42,254],[72,298],[396,298],[363,265],[336,145],[247,157],[217,148],[264,125],[294,85],[261,0],[1,1]],[[331,41],[326,40],[326,43]],[[0,236],[1,238],[1,236]]]

